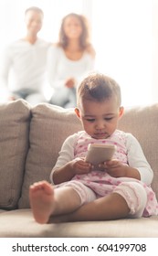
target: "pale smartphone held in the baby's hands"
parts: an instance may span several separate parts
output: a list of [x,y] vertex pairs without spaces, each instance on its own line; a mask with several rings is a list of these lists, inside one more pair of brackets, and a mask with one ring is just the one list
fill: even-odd
[[89,144],[86,162],[91,165],[100,165],[101,163],[111,160],[116,145],[113,144]]

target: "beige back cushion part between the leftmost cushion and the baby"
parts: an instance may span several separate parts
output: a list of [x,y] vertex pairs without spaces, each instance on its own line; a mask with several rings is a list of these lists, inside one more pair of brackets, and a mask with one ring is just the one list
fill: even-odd
[[26,171],[19,208],[29,208],[28,188],[39,180],[49,181],[58,152],[66,137],[81,129],[73,109],[63,109],[48,103],[32,108]]

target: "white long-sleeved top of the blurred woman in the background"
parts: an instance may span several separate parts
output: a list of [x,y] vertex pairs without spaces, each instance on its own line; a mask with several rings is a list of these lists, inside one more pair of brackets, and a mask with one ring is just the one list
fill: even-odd
[[94,69],[95,59],[84,52],[79,60],[68,59],[63,48],[52,46],[47,52],[47,73],[52,88],[62,88],[65,80],[74,78],[79,82]]

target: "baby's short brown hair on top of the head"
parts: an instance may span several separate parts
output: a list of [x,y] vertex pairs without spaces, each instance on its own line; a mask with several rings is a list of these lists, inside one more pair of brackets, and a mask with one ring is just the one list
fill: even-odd
[[91,73],[81,81],[77,91],[77,101],[80,100],[105,101],[115,96],[118,105],[121,106],[121,88],[110,77],[101,73]]

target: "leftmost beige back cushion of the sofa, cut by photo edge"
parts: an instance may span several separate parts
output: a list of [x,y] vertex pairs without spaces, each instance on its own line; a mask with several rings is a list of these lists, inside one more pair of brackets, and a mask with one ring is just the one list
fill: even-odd
[[16,208],[28,150],[30,105],[26,101],[0,104],[0,208]]

